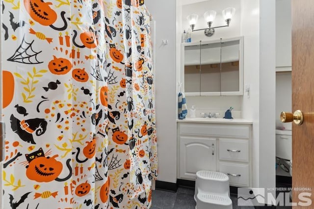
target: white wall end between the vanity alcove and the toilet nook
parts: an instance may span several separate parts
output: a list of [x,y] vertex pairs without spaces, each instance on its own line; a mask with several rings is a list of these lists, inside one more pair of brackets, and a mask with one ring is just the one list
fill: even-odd
[[260,186],[276,185],[276,1],[260,0]]

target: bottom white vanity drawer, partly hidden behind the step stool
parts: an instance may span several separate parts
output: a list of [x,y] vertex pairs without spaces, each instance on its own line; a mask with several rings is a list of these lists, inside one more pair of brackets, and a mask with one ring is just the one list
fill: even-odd
[[229,177],[230,185],[249,186],[249,165],[229,162],[219,162],[219,172]]

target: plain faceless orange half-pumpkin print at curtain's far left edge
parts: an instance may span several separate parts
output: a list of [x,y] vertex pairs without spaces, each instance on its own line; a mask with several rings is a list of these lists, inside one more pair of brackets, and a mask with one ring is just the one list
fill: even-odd
[[9,71],[2,71],[2,96],[2,108],[5,108],[14,96],[14,77]]

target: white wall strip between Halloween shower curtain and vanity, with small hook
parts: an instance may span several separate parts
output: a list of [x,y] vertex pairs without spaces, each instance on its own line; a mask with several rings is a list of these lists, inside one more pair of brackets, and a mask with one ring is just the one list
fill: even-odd
[[[145,4],[156,21],[157,180],[176,183],[176,1],[150,0]],[[162,46],[163,39],[169,44]]]

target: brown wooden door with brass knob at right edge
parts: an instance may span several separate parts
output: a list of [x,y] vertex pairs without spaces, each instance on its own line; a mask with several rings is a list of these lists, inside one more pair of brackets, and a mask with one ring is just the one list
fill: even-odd
[[[308,208],[314,208],[314,0],[292,0],[291,6],[292,109],[304,116],[301,126],[292,125],[292,187],[311,188]],[[301,192],[293,190],[293,202]]]

